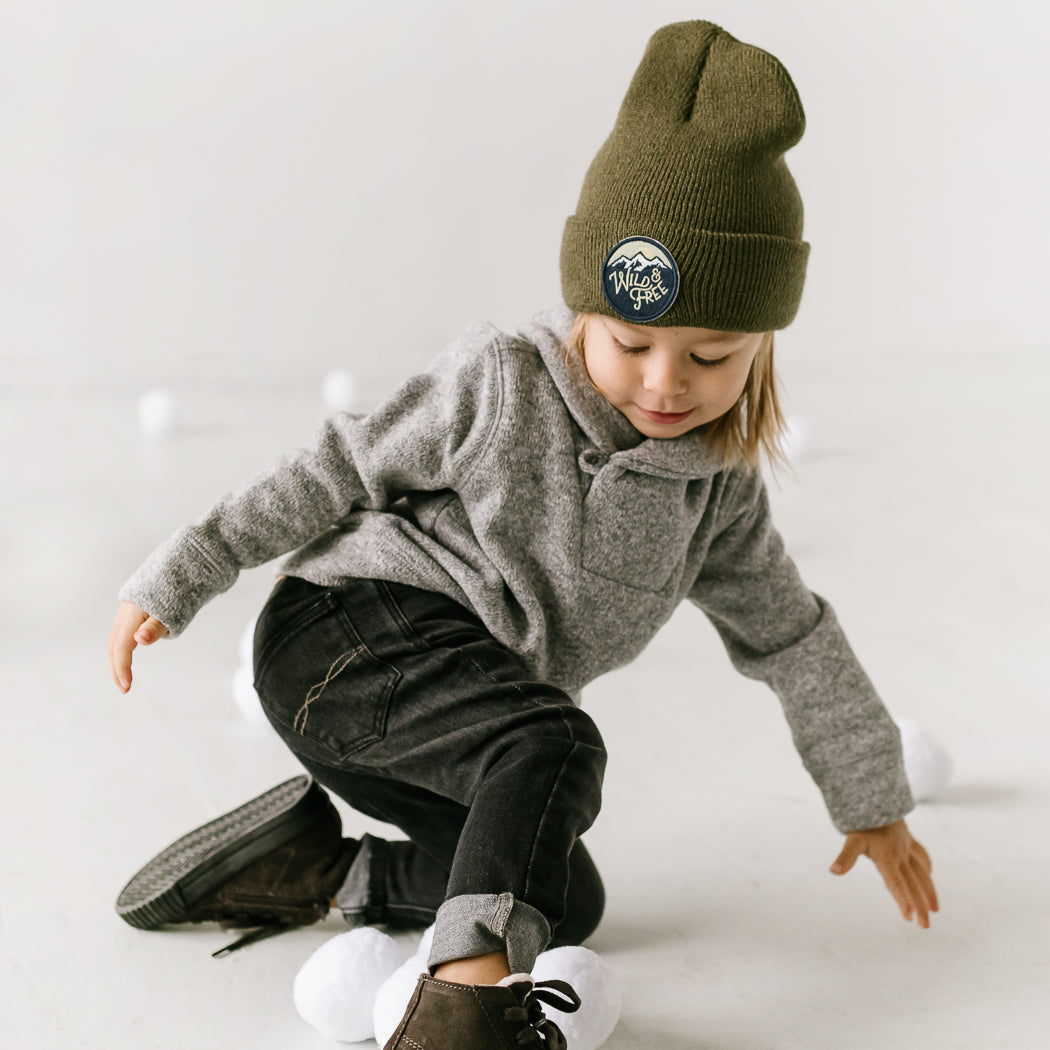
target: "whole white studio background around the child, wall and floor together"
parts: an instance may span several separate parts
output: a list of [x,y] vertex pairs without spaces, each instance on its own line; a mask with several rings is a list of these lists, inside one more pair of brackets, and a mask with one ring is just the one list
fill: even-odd
[[[230,695],[271,570],[138,653],[130,697],[103,660],[116,591],[307,438],[327,371],[366,405],[464,324],[554,300],[647,38],[707,17],[781,58],[808,114],[813,255],[777,356],[812,438],[771,495],[890,710],[957,760],[912,824],[945,907],[919,934],[874,869],[824,874],[840,841],[774,698],[684,608],[586,699],[616,756],[588,833],[609,1050],[1043,1045],[1048,9],[0,0],[0,1040],[321,1045],[289,994],[335,918],[212,967],[226,933],[140,936],[109,905],[295,772]],[[149,386],[183,408],[166,438],[136,424]]]

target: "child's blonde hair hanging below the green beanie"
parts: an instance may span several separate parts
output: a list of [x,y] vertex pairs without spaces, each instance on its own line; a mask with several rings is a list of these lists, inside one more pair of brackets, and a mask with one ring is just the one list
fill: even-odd
[[[581,363],[584,362],[584,329],[589,316],[593,315],[576,316],[566,345],[566,351],[575,353]],[[791,470],[782,445],[784,418],[773,366],[773,333],[766,332],[751,362],[740,396],[729,412],[706,425],[705,439],[727,467],[742,464],[749,470],[758,470],[764,453],[774,474],[780,468]]]

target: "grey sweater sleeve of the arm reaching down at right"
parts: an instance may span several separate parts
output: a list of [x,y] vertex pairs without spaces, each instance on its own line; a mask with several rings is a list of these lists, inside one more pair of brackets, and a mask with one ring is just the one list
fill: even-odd
[[835,826],[848,833],[901,819],[914,802],[900,733],[831,606],[784,551],[757,471],[740,472],[721,513],[691,601],[736,669],[779,697]]

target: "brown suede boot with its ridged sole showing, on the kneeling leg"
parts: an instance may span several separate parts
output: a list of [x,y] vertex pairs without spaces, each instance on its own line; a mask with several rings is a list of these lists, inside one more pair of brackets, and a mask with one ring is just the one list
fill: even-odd
[[309,776],[294,777],[158,854],[121,890],[117,914],[140,929],[265,927],[225,954],[323,919],[356,853],[328,795]]

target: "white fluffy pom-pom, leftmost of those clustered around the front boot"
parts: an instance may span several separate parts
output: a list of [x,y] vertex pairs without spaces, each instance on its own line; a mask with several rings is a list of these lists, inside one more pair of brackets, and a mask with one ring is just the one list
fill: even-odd
[[402,962],[404,952],[397,942],[378,929],[362,926],[339,933],[326,941],[296,974],[295,1008],[330,1040],[371,1040],[376,993]]

